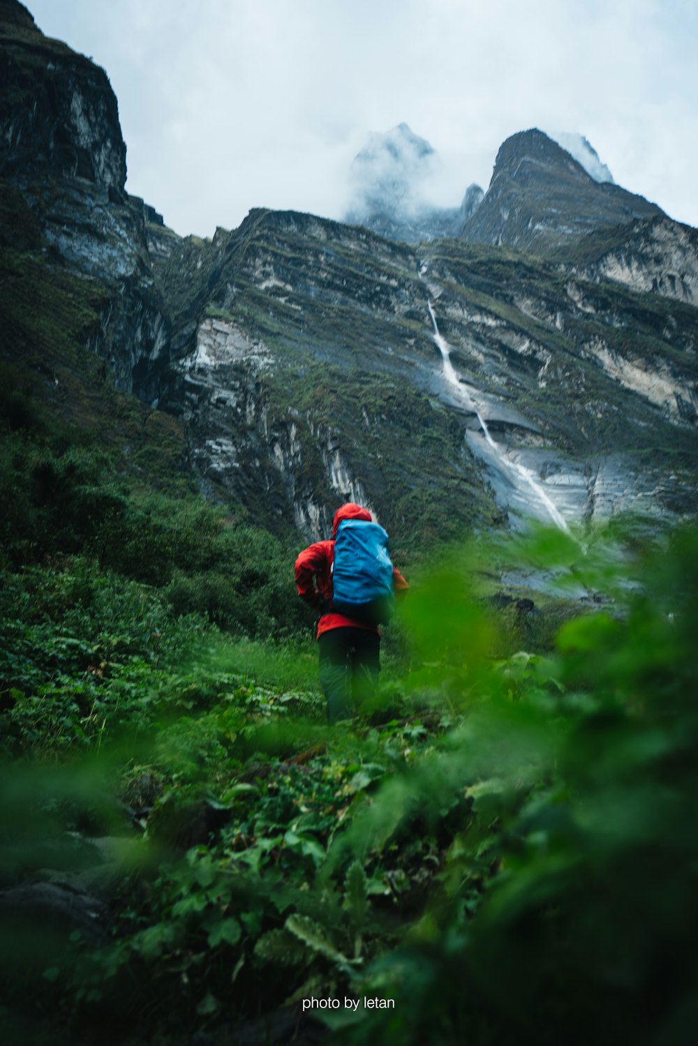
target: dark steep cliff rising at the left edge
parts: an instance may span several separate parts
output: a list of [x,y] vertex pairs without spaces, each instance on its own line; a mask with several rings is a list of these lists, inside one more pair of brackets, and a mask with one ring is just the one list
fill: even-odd
[[142,204],[125,192],[126,145],[103,69],[0,2],[0,179],[36,215],[44,246],[107,291],[91,347],[117,386],[159,395],[168,334]]

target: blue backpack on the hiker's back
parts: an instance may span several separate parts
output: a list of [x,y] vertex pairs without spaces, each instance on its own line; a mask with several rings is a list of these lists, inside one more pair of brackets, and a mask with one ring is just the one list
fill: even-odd
[[385,624],[395,606],[388,536],[378,523],[342,520],[335,539],[333,610],[366,624]]

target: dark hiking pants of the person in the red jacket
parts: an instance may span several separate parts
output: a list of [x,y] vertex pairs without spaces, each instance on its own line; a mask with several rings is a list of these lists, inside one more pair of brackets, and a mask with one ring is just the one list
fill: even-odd
[[381,637],[368,629],[341,628],[318,639],[320,686],[328,722],[355,715],[378,684]]

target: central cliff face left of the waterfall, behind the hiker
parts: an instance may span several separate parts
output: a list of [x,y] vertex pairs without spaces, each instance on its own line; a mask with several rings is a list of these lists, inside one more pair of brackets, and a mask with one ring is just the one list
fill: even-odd
[[163,403],[185,412],[209,493],[309,538],[347,499],[412,541],[491,518],[461,428],[428,391],[409,248],[253,211],[208,244],[184,241],[158,271],[177,346]]

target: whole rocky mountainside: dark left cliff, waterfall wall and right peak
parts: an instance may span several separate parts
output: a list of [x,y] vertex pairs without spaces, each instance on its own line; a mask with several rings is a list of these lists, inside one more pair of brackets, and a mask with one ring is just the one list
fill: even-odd
[[55,288],[105,382],[185,425],[207,497],[303,538],[358,500],[403,552],[527,515],[696,513],[695,230],[677,253],[659,208],[525,132],[469,190],[468,238],[261,209],[182,238],[125,192],[106,74],[15,0],[0,45],[0,266],[24,289],[0,296],[2,355],[41,372],[18,302]]

